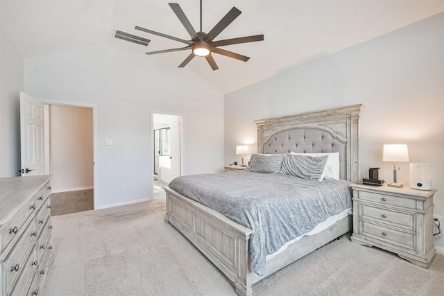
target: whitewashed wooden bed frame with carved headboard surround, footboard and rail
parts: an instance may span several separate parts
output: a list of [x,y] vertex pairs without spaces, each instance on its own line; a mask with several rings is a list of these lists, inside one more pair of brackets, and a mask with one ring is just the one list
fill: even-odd
[[[258,153],[264,153],[266,143],[269,143],[279,132],[307,128],[322,130],[332,134],[335,140],[344,143],[345,150],[340,154],[341,176],[350,182],[357,182],[359,180],[361,107],[362,105],[352,105],[255,121]],[[238,295],[253,295],[252,285],[257,281],[352,229],[352,216],[348,216],[323,232],[305,236],[300,241],[289,245],[284,252],[269,259],[266,263],[265,274],[258,276],[250,269],[248,243],[253,230],[235,223],[169,187],[165,187],[165,191],[167,193],[165,222],[176,227],[200,252],[205,254],[228,277]]]

